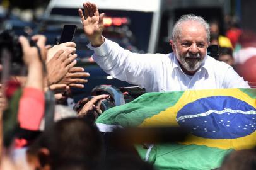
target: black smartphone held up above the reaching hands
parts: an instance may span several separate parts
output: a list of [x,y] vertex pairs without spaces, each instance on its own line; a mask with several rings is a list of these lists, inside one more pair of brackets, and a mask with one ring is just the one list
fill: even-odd
[[59,39],[59,44],[65,42],[72,42],[74,39],[74,34],[76,33],[76,28],[76,25],[64,25],[61,32],[61,37]]

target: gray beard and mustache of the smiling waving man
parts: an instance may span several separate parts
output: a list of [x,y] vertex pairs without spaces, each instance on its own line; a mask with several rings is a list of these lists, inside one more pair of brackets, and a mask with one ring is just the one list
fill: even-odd
[[[178,51],[176,50],[176,55],[177,55],[177,58],[180,59],[180,64],[184,67],[184,69],[186,69],[187,71],[196,71],[197,69],[199,69],[199,67],[201,66],[202,64],[202,59],[199,55],[199,53],[197,53],[196,56],[190,56],[189,53],[187,53],[185,55],[185,57],[181,57],[178,53]],[[188,62],[186,59],[186,57],[194,57],[194,58],[199,58],[200,60],[196,60],[195,62],[191,63],[191,62]]]

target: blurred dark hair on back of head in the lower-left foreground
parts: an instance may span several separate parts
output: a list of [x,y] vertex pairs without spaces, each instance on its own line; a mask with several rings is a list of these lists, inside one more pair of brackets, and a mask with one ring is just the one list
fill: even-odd
[[54,123],[29,147],[28,154],[37,154],[40,148],[50,152],[50,166],[57,168],[63,162],[83,161],[91,167],[102,159],[103,140],[98,128],[83,118],[66,118]]

